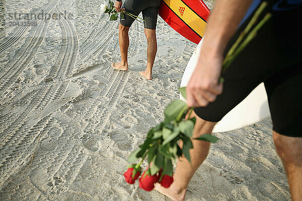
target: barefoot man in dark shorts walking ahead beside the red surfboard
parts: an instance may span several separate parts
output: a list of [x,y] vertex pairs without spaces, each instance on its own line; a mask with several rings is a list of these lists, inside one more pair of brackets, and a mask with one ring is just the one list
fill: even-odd
[[[152,79],[152,68],[157,53],[156,25],[160,6],[161,0],[125,0],[124,4],[122,4],[121,0],[116,0],[114,6],[117,12],[121,12],[124,9],[134,16],[138,16],[142,12],[144,33],[147,39],[147,66],[145,71],[139,71],[139,74],[146,79]],[[128,15],[124,15],[124,18],[120,19],[118,30],[121,61],[119,63],[111,63],[114,69],[128,70],[128,32],[134,20]]]

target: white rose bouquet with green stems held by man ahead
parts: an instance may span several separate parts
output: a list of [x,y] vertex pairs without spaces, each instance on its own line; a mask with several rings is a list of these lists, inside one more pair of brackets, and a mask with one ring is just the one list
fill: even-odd
[[[128,15],[129,17],[134,18],[135,20],[137,20],[137,18],[138,18],[142,21],[145,21],[145,20],[139,18],[138,16],[134,16],[131,13],[126,12],[124,9],[121,11],[120,16],[118,16],[118,12],[114,8],[114,3],[111,2],[110,0],[109,0],[108,5],[106,5],[106,4],[101,5],[101,12],[108,13],[110,21],[113,21],[113,20],[115,21],[118,18],[124,18],[124,15]],[[139,21],[139,20],[137,20],[137,21]],[[141,22],[141,21],[139,21],[139,22]]]

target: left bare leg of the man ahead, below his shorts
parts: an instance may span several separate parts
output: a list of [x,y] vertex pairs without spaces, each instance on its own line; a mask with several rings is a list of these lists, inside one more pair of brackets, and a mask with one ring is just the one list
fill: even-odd
[[121,24],[118,26],[119,32],[119,46],[121,51],[121,62],[111,63],[114,69],[128,70],[128,47],[129,47],[129,27],[125,27]]

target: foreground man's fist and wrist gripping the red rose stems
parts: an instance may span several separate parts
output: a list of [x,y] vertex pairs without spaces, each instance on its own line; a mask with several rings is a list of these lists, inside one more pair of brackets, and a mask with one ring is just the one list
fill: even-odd
[[218,83],[222,56],[200,54],[198,64],[186,87],[188,107],[205,107],[222,93],[223,85]]

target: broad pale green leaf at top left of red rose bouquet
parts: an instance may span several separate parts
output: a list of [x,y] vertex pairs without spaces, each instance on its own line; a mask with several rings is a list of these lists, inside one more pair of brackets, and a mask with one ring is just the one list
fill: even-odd
[[179,113],[187,108],[187,104],[182,100],[173,100],[165,109],[165,122],[171,122],[177,118]]

